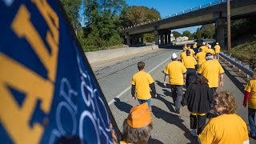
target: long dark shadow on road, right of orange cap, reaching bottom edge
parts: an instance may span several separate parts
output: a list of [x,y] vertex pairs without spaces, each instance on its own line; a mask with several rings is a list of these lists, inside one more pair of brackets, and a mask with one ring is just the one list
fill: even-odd
[[178,126],[180,129],[182,129],[185,132],[184,136],[189,139],[191,143],[198,143],[197,138],[193,138],[191,136],[190,130],[186,128],[186,126],[182,123],[184,121],[178,115],[168,113],[156,106],[152,106],[152,112],[156,118],[162,118],[162,120],[165,122]]

